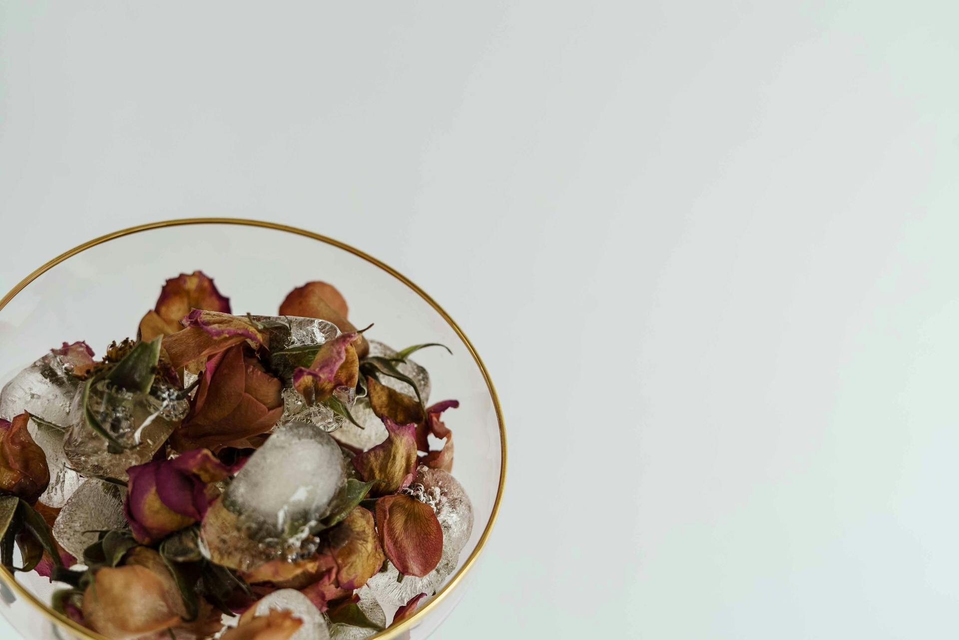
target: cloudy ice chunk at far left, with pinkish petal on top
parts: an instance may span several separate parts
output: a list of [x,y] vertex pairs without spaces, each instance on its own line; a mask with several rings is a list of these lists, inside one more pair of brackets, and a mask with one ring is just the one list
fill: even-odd
[[81,382],[61,356],[50,352],[21,371],[0,392],[0,418],[12,420],[29,411],[66,428],[72,422],[73,398]]

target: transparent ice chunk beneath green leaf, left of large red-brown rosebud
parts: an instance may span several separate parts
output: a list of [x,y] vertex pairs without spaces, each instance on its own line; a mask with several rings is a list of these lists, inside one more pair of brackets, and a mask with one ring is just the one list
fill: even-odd
[[109,388],[105,381],[94,386],[87,404],[104,428],[121,444],[109,443],[82,418],[82,394],[74,403],[74,423],[67,431],[63,450],[70,466],[83,474],[127,479],[127,469],[150,462],[176,427],[176,416],[185,414],[186,400],[160,400],[149,394],[133,394]]

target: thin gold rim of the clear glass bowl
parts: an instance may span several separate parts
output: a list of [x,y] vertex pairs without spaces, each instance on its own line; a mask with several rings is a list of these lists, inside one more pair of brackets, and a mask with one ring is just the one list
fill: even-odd
[[[4,307],[7,306],[7,303],[9,303],[13,299],[13,296],[15,296],[17,293],[22,291],[25,286],[34,282],[35,279],[39,277],[41,274],[49,270],[51,267],[56,266],[59,263],[62,263],[67,258],[70,258],[71,256],[75,256],[78,253],[85,251],[86,249],[89,249],[91,246],[102,244],[108,240],[115,240],[117,238],[123,238],[124,236],[129,236],[131,234],[140,233],[141,231],[149,231],[151,229],[159,229],[162,227],[183,226],[188,224],[236,224],[236,225],[248,226],[248,227],[262,227],[265,229],[275,229],[277,231],[286,231],[288,233],[296,234],[298,236],[305,236],[306,238],[312,238],[314,240],[319,240],[320,242],[326,242],[327,244],[331,244],[335,247],[339,247],[340,249],[344,251],[348,251],[349,253],[352,253],[354,256],[363,258],[363,260],[365,260],[367,263],[375,264],[376,266],[386,271],[386,273],[393,276],[394,278],[402,282],[404,285],[409,286],[409,288],[411,288],[413,291],[419,294],[419,296],[423,298],[423,300],[425,300],[431,307],[433,307],[433,309],[436,310],[437,313],[439,313],[443,317],[444,320],[446,320],[447,324],[449,324],[450,327],[453,328],[453,331],[456,331],[456,335],[458,335],[459,339],[462,340],[464,345],[466,345],[466,348],[469,350],[470,355],[473,356],[473,360],[477,363],[477,366],[479,367],[479,371],[480,373],[482,373],[482,377],[486,381],[486,387],[487,389],[489,389],[489,395],[493,399],[493,406],[496,408],[496,420],[497,420],[497,423],[499,423],[500,425],[500,451],[501,451],[500,486],[496,492],[496,501],[493,503],[493,511],[489,516],[489,521],[486,523],[486,528],[483,530],[482,536],[479,537],[479,542],[477,543],[476,548],[473,549],[473,553],[471,553],[470,557],[466,559],[466,561],[463,563],[463,566],[459,569],[459,571],[456,572],[456,575],[453,577],[453,579],[450,580],[450,582],[446,583],[446,585],[442,589],[440,589],[439,593],[437,593],[433,597],[433,600],[427,603],[426,606],[423,606],[423,608],[421,608],[415,614],[410,616],[408,620],[405,620],[404,622],[400,623],[399,625],[396,625],[395,627],[390,627],[384,631],[381,631],[380,633],[377,633],[376,635],[371,637],[371,640],[373,639],[389,640],[390,638],[400,637],[400,635],[404,631],[411,629],[413,626],[415,626],[431,610],[433,610],[433,608],[437,606],[440,603],[440,601],[442,601],[446,596],[452,593],[453,589],[456,588],[456,584],[460,583],[463,580],[463,577],[466,575],[466,572],[473,567],[473,564],[476,562],[477,557],[479,556],[479,552],[482,551],[483,546],[486,544],[486,539],[489,537],[490,531],[493,529],[493,523],[496,521],[496,516],[500,511],[500,501],[503,498],[503,485],[506,482],[506,430],[505,430],[505,427],[503,426],[503,410],[500,408],[500,399],[496,395],[496,388],[493,386],[493,380],[490,379],[489,372],[486,371],[486,366],[483,364],[482,359],[479,357],[479,354],[477,354],[477,351],[473,347],[473,343],[470,342],[470,339],[466,337],[466,334],[463,333],[461,329],[459,329],[459,326],[456,324],[453,318],[451,318],[450,315],[443,310],[443,308],[437,305],[436,301],[434,301],[433,298],[431,298],[423,289],[413,284],[413,282],[410,281],[409,278],[404,276],[402,273],[399,273],[391,266],[380,262],[379,260],[377,260],[376,258],[373,258],[372,256],[368,254],[363,253],[363,251],[360,251],[359,249],[356,249],[350,246],[349,244],[344,244],[343,242],[340,242],[339,240],[334,240],[326,236],[321,236],[320,234],[315,234],[311,231],[306,231],[305,229],[298,229],[296,227],[291,227],[286,224],[276,224],[275,222],[264,222],[263,220],[249,220],[249,219],[244,219],[239,217],[186,217],[186,218],[180,218],[175,220],[162,220],[160,222],[150,222],[148,224],[140,224],[135,227],[129,227],[129,229],[114,231],[113,233],[106,234],[105,236],[101,236],[100,238],[94,238],[93,240],[83,242],[81,245],[76,246],[70,249],[69,251],[64,251],[63,253],[58,255],[56,258],[54,258],[50,262],[45,263],[39,268],[37,268],[33,273],[31,273],[29,276],[27,276],[26,278],[21,280],[19,283],[17,283],[15,286],[13,286],[10,292],[7,293],[7,295],[5,295],[2,300],[0,300],[0,310],[2,310]],[[74,621],[70,620],[69,618],[60,615],[59,613],[51,609],[49,606],[46,606],[44,603],[40,602],[39,599],[37,599],[34,596],[34,594],[32,594],[30,591],[24,588],[20,583],[16,582],[16,580],[13,578],[12,574],[7,570],[6,567],[0,566],[0,580],[2,580],[9,587],[11,587],[12,590],[16,592],[21,598],[31,603],[32,605],[36,606],[40,610],[40,613],[45,615],[48,619],[58,623],[59,625],[62,625],[63,627],[71,629],[75,633],[78,633],[80,637],[84,638],[85,640],[107,640],[104,636],[100,635],[99,633],[95,633],[91,631],[90,629],[86,629],[85,627],[82,627],[82,625],[79,625],[75,623]]]

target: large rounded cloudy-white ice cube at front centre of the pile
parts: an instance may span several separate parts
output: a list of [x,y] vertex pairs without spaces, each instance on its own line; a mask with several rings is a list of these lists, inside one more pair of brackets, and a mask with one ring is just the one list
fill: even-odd
[[346,481],[339,445],[320,426],[288,423],[269,436],[223,494],[251,539],[289,555],[329,513]]

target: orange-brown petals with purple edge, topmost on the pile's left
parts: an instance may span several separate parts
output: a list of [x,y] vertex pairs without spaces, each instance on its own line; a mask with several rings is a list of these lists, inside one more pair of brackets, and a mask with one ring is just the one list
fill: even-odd
[[147,311],[140,321],[140,339],[150,342],[157,335],[169,335],[180,331],[180,319],[190,309],[230,312],[230,299],[221,295],[213,279],[202,271],[171,278],[160,291],[156,307]]

